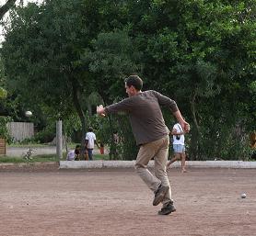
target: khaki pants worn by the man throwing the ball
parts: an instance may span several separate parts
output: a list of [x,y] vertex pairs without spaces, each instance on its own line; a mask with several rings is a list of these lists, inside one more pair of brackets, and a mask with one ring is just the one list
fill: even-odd
[[[160,140],[151,141],[142,145],[135,163],[136,173],[154,193],[157,191],[160,184],[169,186],[169,192],[165,196],[163,204],[166,204],[171,200],[171,189],[166,172],[168,154],[169,135]],[[147,170],[147,164],[153,157],[155,160],[155,175]]]

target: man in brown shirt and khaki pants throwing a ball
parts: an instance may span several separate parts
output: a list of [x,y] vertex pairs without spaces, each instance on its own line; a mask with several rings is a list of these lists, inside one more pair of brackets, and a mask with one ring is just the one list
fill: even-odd
[[[143,81],[138,75],[130,75],[124,82],[129,97],[108,107],[100,105],[97,107],[97,113],[101,116],[120,111],[128,113],[136,144],[140,146],[135,163],[136,173],[154,192],[153,206],[163,204],[158,214],[169,215],[176,209],[173,206],[166,172],[169,129],[165,125],[160,106],[169,107],[182,129],[189,131],[190,125],[182,118],[174,100],[154,90],[142,92]],[[147,169],[147,164],[153,157],[155,175]]]

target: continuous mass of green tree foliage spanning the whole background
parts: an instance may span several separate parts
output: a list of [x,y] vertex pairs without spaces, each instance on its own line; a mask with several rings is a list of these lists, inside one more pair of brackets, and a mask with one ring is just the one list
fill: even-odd
[[[7,82],[56,116],[76,110],[86,129],[87,96],[97,92],[111,104],[125,96],[123,78],[138,73],[145,89],[175,99],[192,124],[192,159],[239,158],[256,129],[255,5],[47,0],[17,7],[2,49]],[[170,129],[173,122],[167,118]]]

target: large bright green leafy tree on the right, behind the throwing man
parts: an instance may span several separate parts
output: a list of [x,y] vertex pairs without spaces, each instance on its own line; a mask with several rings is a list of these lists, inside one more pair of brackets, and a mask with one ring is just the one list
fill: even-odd
[[248,93],[255,76],[255,3],[137,1],[135,8],[128,22],[144,51],[145,82],[177,100],[192,122],[192,159],[239,158],[233,146],[255,124]]

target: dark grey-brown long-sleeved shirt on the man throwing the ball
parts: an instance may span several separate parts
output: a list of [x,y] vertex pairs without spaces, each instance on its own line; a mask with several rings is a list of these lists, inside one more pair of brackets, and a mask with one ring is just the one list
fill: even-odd
[[134,138],[137,145],[140,145],[159,140],[169,134],[160,106],[169,107],[172,112],[178,110],[174,100],[159,94],[157,91],[148,90],[105,107],[105,112],[107,114],[120,111],[127,112]]

